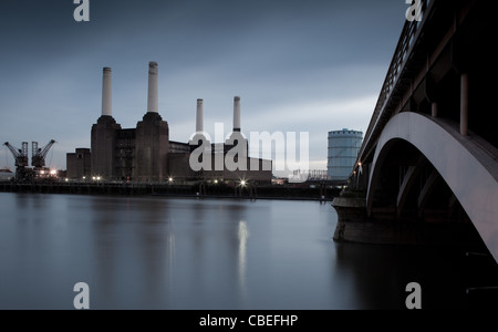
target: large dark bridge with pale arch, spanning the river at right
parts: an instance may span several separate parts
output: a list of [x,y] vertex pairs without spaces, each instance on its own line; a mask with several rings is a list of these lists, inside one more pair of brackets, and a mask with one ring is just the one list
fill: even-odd
[[498,261],[497,25],[484,0],[422,1],[406,21],[336,240],[483,241]]

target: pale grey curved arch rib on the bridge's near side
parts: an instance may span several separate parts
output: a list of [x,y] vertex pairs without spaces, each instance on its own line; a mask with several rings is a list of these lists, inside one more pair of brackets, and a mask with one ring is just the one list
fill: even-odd
[[383,159],[400,139],[416,147],[440,174],[498,261],[497,149],[430,116],[403,112],[390,120],[378,138],[370,173],[366,208],[372,211]]

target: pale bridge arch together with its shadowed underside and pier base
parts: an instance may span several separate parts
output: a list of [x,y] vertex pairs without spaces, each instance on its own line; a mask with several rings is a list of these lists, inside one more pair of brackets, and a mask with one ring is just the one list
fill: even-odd
[[[391,243],[485,242],[498,258],[497,149],[457,124],[403,112],[365,164],[366,199],[334,201],[335,238]],[[354,206],[354,208],[352,208]]]

